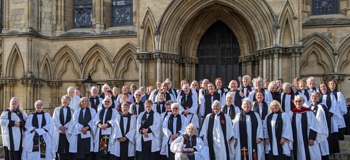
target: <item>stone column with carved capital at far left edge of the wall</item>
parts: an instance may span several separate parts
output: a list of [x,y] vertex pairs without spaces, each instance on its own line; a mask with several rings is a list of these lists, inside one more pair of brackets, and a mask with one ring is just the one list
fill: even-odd
[[12,78],[0,79],[0,84],[3,86],[3,109],[8,108],[10,100],[13,97],[13,86],[17,85],[17,80]]

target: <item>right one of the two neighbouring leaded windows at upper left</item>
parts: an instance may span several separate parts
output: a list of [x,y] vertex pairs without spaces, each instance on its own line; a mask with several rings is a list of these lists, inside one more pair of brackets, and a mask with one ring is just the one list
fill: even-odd
[[132,0],[113,0],[112,14],[113,27],[132,25]]

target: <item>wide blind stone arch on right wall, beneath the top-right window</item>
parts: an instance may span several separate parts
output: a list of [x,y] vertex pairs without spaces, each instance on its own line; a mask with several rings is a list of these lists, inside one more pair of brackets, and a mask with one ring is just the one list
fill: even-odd
[[[335,59],[332,55],[334,47],[325,41],[323,37],[318,34],[311,35],[304,39],[303,44],[304,51],[300,56],[300,64],[302,64],[300,66],[301,74],[303,74],[305,67],[313,67],[309,64],[311,64],[311,61],[315,62],[315,60],[317,61],[317,65],[321,65],[326,73],[334,72]],[[310,58],[312,54],[316,54],[317,58]]]

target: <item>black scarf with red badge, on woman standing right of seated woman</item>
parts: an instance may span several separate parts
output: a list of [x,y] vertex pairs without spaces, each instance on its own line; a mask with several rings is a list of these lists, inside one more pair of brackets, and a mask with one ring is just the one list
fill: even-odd
[[220,124],[221,124],[221,130],[224,135],[224,142],[225,142],[225,149],[226,149],[226,159],[230,159],[230,152],[229,152],[229,145],[228,141],[226,138],[226,118],[223,112],[220,112],[219,114],[212,113],[209,117],[209,122],[208,122],[208,146],[209,147],[209,157],[210,160],[215,160],[215,151],[214,151],[214,139],[213,139],[213,130],[214,130],[214,120],[215,116],[218,115],[220,116]]

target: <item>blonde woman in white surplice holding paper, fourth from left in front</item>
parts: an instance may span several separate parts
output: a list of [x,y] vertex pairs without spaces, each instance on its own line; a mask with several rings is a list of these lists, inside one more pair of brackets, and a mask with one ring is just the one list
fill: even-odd
[[96,131],[96,125],[92,123],[96,110],[89,108],[90,105],[86,97],[80,99],[79,109],[74,112],[68,128],[68,133],[72,134],[69,139],[69,152],[73,153],[73,160],[92,160],[96,157],[93,152],[93,134]]

